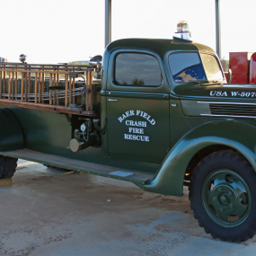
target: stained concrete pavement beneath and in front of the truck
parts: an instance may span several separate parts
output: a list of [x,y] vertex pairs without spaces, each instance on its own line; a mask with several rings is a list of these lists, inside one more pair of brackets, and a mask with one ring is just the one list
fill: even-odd
[[256,236],[225,243],[205,234],[181,198],[132,183],[19,161],[0,188],[0,255],[255,255]]

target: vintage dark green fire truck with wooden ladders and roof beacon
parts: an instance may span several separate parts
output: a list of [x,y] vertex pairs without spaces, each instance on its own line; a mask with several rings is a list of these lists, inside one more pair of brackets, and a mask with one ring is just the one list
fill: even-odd
[[172,196],[185,185],[207,234],[251,238],[256,87],[226,84],[214,50],[183,25],[172,40],[111,42],[102,67],[1,63],[1,179],[22,158]]

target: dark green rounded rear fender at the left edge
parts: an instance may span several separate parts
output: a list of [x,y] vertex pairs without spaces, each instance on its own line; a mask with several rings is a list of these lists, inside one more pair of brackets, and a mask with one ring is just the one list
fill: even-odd
[[25,147],[22,128],[13,113],[0,109],[0,152]]

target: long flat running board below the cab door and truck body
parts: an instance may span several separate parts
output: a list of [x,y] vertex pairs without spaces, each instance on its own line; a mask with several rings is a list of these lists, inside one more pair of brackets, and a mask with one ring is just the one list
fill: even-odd
[[44,154],[30,149],[5,151],[0,152],[0,154],[65,168],[70,171],[85,172],[121,181],[130,181],[137,184],[146,184],[147,181],[154,178],[154,173],[126,170],[103,164],[89,163],[54,154]]

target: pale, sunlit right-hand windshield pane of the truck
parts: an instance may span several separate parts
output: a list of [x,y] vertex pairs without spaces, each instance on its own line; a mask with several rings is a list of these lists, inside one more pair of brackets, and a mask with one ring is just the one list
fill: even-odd
[[216,60],[216,57],[209,54],[201,54],[200,56],[205,67],[205,71],[207,73],[207,79],[223,81],[224,77]]

